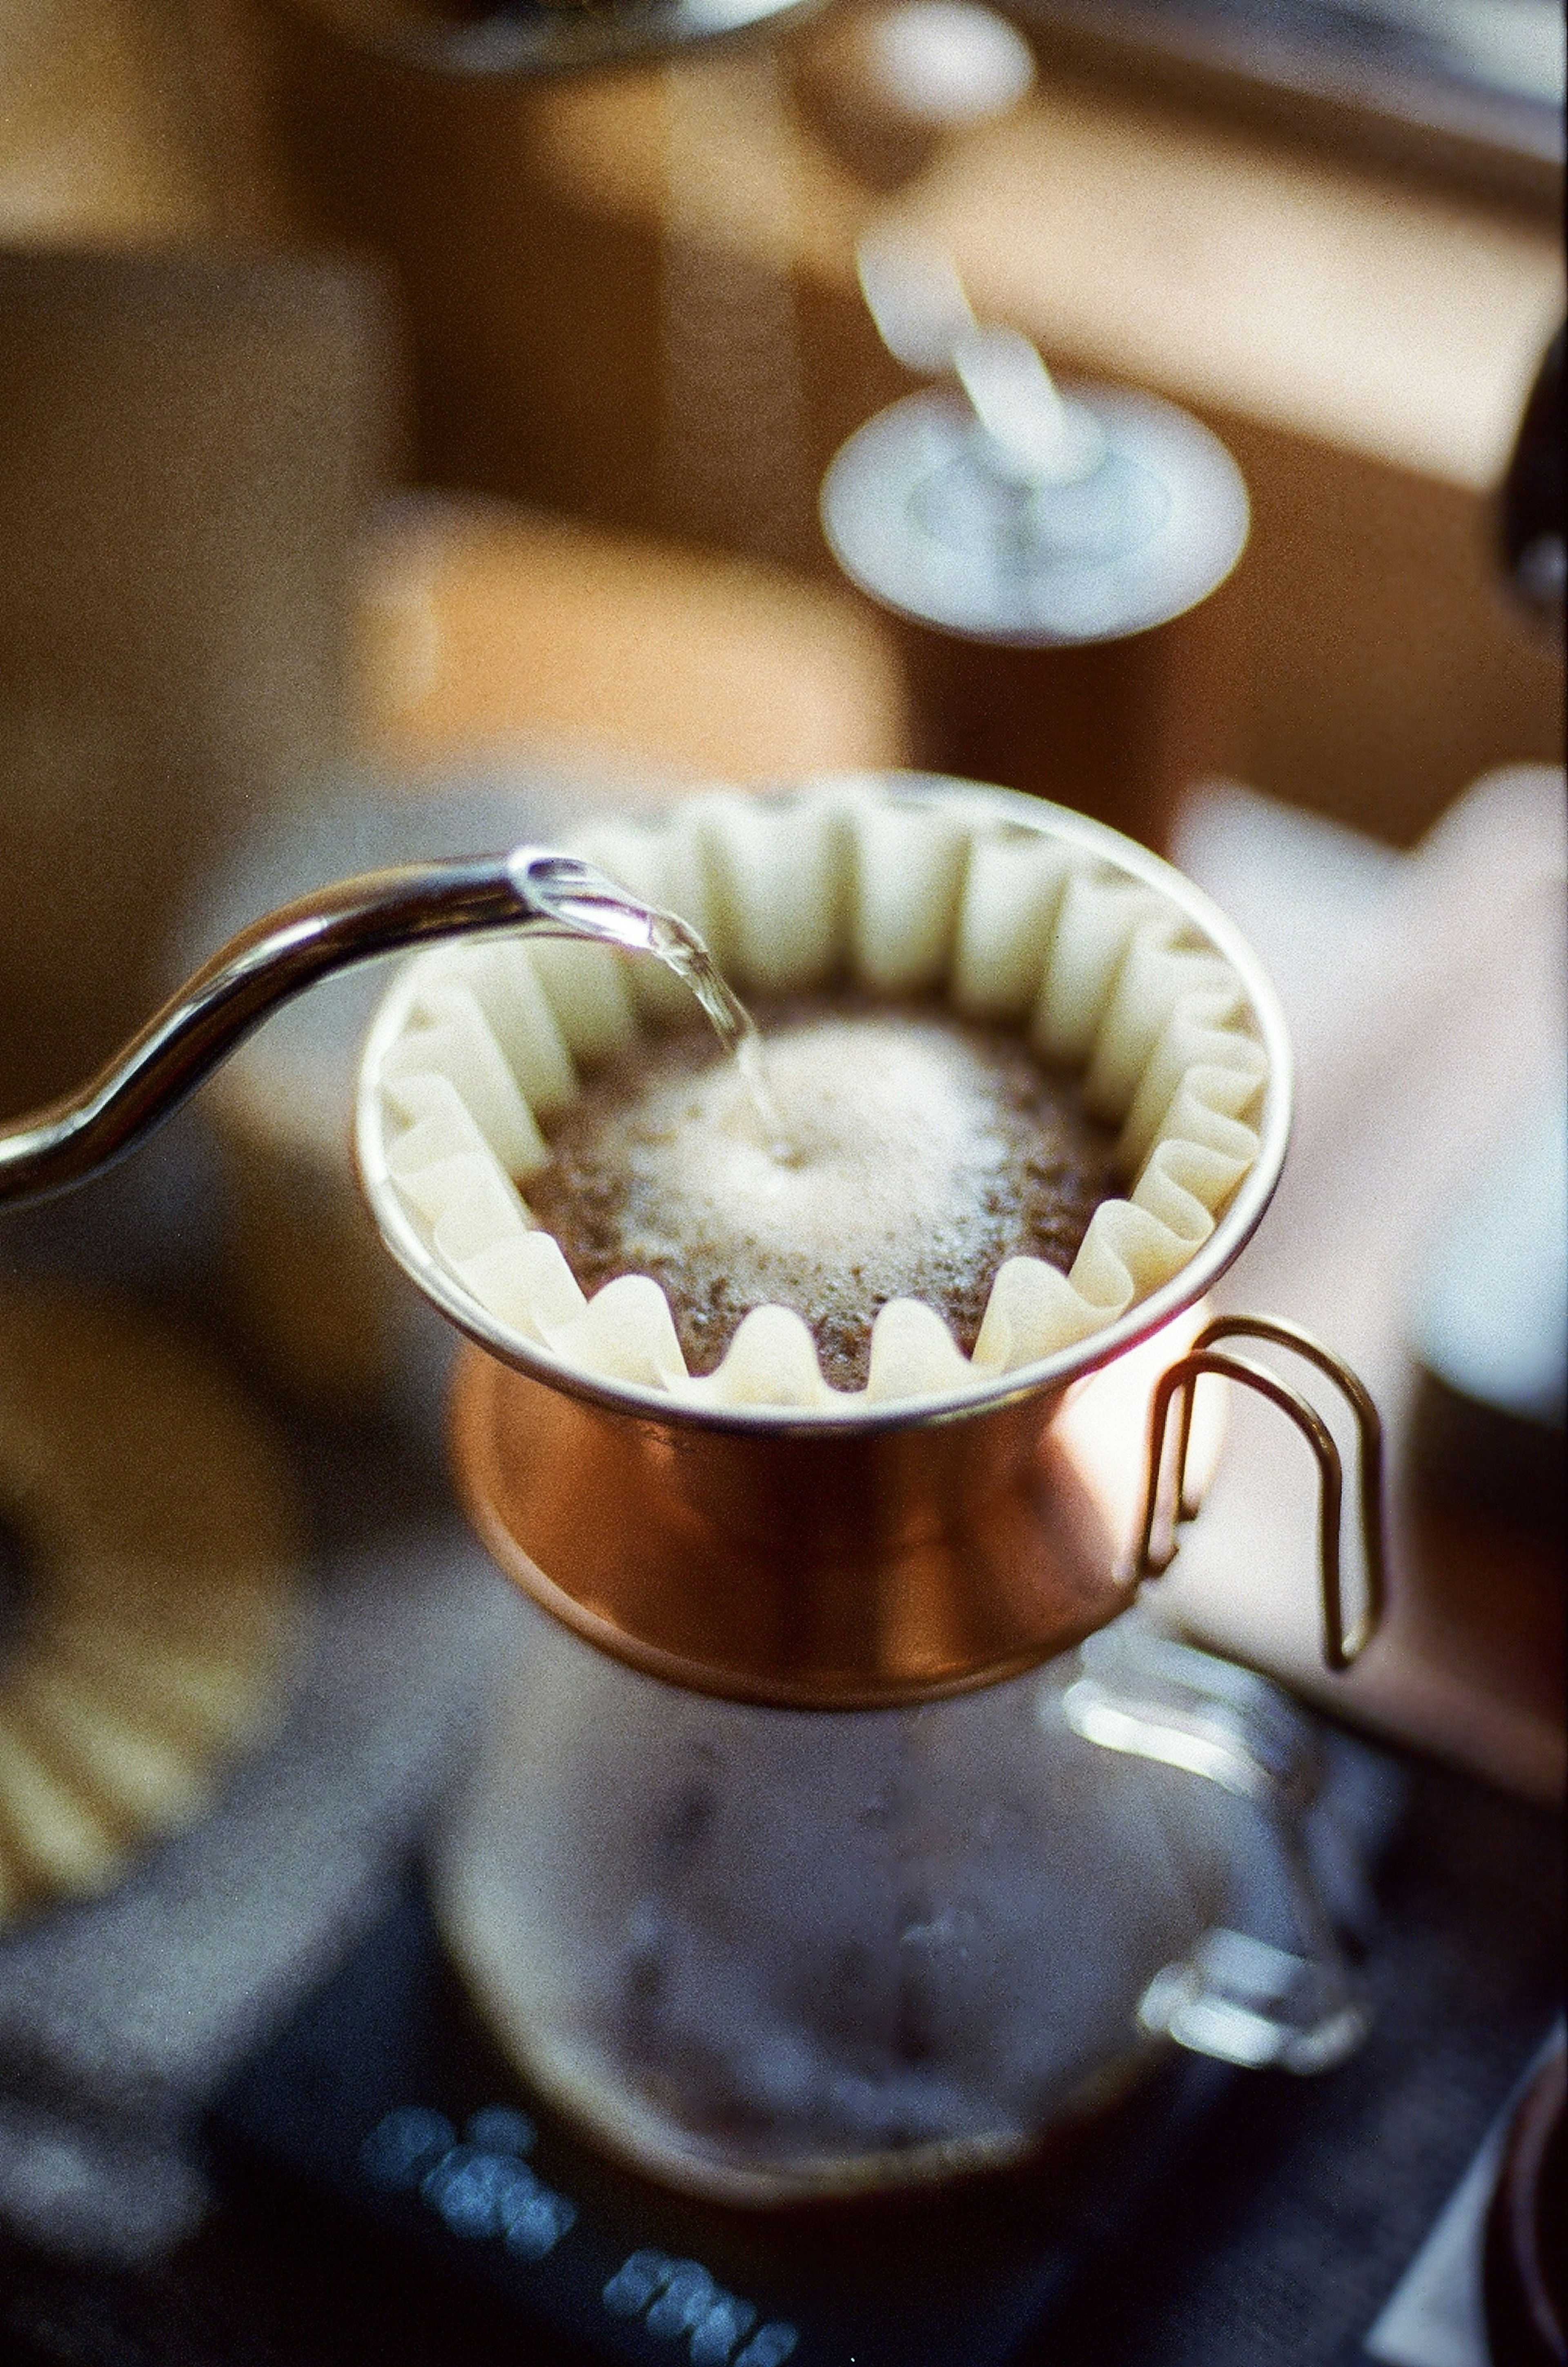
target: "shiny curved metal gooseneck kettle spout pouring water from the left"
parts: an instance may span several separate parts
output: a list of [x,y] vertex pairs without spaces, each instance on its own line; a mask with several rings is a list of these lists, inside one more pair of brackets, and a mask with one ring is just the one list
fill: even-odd
[[662,914],[556,847],[402,864],[312,890],[229,937],[80,1091],[0,1127],[0,1205],[135,1150],[260,1023],[319,978],[473,930],[648,952]]

